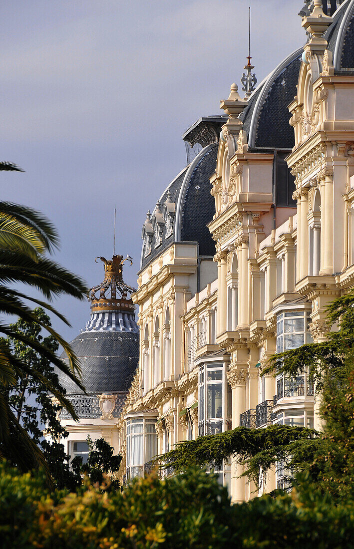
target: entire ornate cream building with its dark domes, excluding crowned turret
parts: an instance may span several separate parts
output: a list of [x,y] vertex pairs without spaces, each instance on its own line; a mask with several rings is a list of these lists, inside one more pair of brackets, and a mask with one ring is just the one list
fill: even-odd
[[[114,439],[128,480],[178,441],[238,425],[321,428],[306,372],[268,357],[326,338],[325,307],[354,286],[354,0],[302,8],[304,47],[221,116],[184,134],[193,160],[144,222],[139,363]],[[108,391],[107,391],[108,392]],[[113,440],[113,439],[112,439]],[[255,487],[235,461],[234,502]],[[283,486],[282,468],[263,489]]]

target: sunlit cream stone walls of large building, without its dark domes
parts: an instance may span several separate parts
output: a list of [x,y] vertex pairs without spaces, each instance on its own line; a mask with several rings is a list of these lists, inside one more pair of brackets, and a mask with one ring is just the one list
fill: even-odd
[[[331,23],[317,5],[303,21],[310,40],[289,105],[295,147],[286,158],[293,207],[274,213],[274,153],[249,146],[240,114],[252,96],[241,99],[233,85],[221,102],[228,118],[209,223],[217,278],[195,293],[197,250],[186,244],[173,244],[141,272],[133,296],[141,358],[122,440],[125,418],[145,412],[155,413],[159,453],[240,424],[321,427],[306,374],[294,382],[261,372],[277,350],[323,340],[325,307],[353,285],[354,76],[336,74],[322,37]],[[255,487],[235,461],[222,473],[233,501],[252,497]],[[281,481],[272,472],[265,489]]]

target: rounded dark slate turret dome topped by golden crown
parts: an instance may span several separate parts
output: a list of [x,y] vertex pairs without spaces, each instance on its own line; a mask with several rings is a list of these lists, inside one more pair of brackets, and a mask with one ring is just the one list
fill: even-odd
[[[86,393],[127,393],[139,361],[139,329],[129,296],[134,288],[123,282],[122,256],[100,259],[105,264],[104,281],[90,290],[91,318],[71,347],[80,361]],[[65,352],[61,360],[69,364]],[[66,374],[58,369],[57,374],[66,394],[83,393]]]

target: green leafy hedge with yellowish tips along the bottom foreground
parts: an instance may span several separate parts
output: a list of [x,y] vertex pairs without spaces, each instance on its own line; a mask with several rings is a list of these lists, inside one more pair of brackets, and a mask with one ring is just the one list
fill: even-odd
[[[109,484],[109,480],[105,481]],[[104,483],[104,484],[105,484]],[[125,490],[87,480],[77,492],[44,488],[40,473],[0,466],[0,547],[43,549],[339,549],[354,539],[354,502],[297,478],[291,494],[232,506],[217,477],[153,472]]]

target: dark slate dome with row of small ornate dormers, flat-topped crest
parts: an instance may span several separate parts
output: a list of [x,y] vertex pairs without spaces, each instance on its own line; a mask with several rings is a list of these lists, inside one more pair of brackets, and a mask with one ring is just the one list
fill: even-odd
[[218,137],[226,119],[205,116],[183,135],[190,147],[199,143],[203,148],[168,185],[153,213],[148,212],[142,231],[141,268],[173,242],[198,242],[199,255],[215,255],[215,242],[207,228],[215,214],[209,178],[215,171]]

